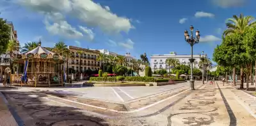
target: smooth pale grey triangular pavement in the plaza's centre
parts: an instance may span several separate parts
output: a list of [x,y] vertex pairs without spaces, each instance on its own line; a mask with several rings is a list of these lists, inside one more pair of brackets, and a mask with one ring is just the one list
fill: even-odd
[[[195,83],[196,86],[196,83]],[[161,87],[56,87],[56,88],[33,88],[22,87],[20,90],[48,91],[58,94],[76,95],[90,99],[98,99],[110,102],[127,102],[148,95],[159,94],[168,90],[189,88],[189,82],[165,85]]]

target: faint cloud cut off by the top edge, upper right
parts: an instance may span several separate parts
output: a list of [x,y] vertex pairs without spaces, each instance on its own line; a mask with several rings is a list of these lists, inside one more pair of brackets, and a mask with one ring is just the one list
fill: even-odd
[[243,6],[248,0],[212,0],[213,4],[221,8]]

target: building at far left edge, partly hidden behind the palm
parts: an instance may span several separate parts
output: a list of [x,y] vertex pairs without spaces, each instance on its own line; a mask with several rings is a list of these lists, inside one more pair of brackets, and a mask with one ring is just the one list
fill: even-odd
[[[10,39],[18,41],[17,31],[15,31],[12,22],[6,22],[10,26]],[[4,69],[10,67],[10,54],[5,53],[0,55],[0,81],[3,81]]]

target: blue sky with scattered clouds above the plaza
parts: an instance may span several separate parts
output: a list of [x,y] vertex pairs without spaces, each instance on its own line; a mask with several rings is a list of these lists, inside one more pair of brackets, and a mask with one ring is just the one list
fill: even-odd
[[139,58],[147,55],[190,54],[184,30],[194,25],[201,34],[194,53],[210,57],[221,43],[225,20],[252,15],[252,0],[0,0],[0,17],[12,21],[21,45],[42,40],[83,48],[108,49]]

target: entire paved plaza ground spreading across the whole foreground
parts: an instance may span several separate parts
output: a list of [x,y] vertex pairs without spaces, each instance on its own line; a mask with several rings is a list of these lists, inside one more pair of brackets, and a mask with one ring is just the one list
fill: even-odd
[[247,126],[256,123],[254,96],[220,82],[203,85],[196,81],[195,88],[189,90],[189,83],[161,87],[0,87],[8,101],[0,109],[9,113],[10,123],[5,122],[9,125]]

